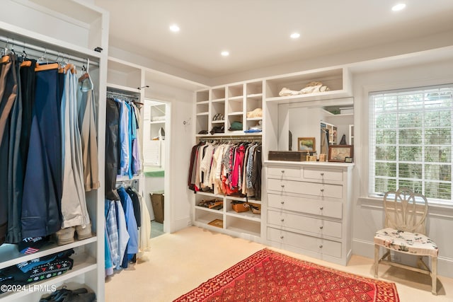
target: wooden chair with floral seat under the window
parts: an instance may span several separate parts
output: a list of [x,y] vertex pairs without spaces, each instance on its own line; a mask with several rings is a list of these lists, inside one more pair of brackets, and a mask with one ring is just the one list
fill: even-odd
[[[385,228],[374,235],[374,277],[377,278],[379,262],[431,276],[431,292],[437,295],[437,245],[425,236],[425,219],[428,201],[425,196],[413,193],[406,187],[384,194]],[[379,248],[386,249],[379,259]],[[418,267],[403,265],[391,259],[390,251],[418,256]],[[431,270],[423,257],[431,258]]]

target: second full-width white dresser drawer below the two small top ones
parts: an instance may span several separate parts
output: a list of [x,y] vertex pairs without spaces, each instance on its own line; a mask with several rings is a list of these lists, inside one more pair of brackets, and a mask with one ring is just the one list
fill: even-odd
[[343,218],[343,203],[328,200],[315,200],[285,194],[268,193],[268,207],[288,211],[299,211],[336,219]]

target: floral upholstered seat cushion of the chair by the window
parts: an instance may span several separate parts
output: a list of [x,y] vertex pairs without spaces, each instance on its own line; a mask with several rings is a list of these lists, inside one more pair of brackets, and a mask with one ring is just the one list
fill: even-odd
[[439,250],[430,238],[420,233],[383,228],[374,235],[374,243],[385,248],[416,255],[437,257]]

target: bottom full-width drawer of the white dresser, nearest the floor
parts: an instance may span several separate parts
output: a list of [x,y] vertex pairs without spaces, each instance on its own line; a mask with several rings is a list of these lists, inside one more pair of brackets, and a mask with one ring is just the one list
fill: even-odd
[[341,257],[341,243],[268,227],[267,238],[275,243],[311,250],[320,255]]

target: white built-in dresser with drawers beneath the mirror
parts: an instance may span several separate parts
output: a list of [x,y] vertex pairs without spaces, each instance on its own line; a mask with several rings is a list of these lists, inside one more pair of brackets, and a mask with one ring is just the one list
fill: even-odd
[[268,245],[347,265],[353,163],[265,162]]

